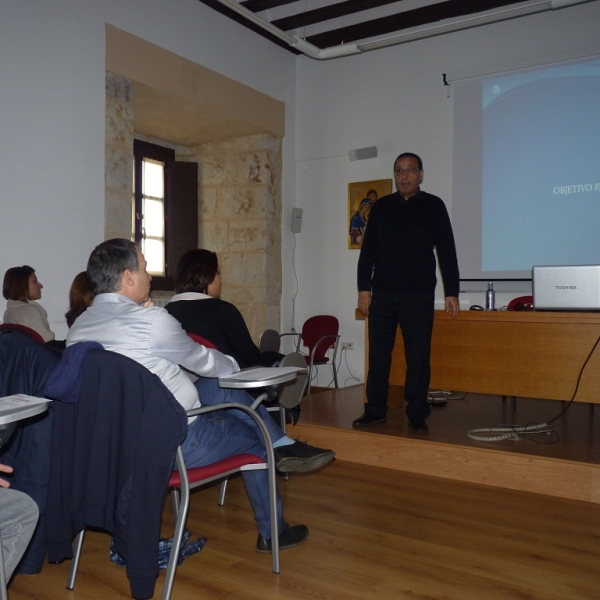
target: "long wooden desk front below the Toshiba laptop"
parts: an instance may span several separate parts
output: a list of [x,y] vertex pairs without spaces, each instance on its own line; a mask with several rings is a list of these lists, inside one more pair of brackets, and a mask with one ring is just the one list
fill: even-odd
[[[359,315],[357,311],[357,318]],[[579,372],[599,337],[598,313],[461,311],[452,320],[436,310],[431,387],[570,400]],[[577,402],[600,403],[598,346],[581,377]],[[368,356],[368,339],[365,348]],[[405,373],[404,344],[398,330],[390,385],[404,385]]]

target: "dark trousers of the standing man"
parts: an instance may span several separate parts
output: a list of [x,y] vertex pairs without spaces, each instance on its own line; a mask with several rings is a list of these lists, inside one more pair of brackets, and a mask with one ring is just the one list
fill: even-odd
[[400,325],[406,357],[404,397],[411,421],[427,419],[431,378],[434,291],[389,292],[373,290],[369,307],[369,374],[367,414],[385,417],[396,329]]

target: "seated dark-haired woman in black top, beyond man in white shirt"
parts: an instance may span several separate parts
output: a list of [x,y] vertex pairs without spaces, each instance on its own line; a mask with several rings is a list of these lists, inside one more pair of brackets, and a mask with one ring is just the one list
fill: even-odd
[[223,354],[233,356],[241,368],[271,367],[283,358],[279,352],[261,353],[240,311],[221,300],[221,273],[215,252],[188,250],[175,269],[175,292],[166,310],[185,331],[211,341]]

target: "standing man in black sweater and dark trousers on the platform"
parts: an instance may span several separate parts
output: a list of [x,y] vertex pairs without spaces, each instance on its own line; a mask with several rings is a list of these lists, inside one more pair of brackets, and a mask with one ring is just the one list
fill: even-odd
[[456,317],[459,274],[452,226],[440,198],[421,191],[423,162],[411,152],[394,162],[397,192],[371,209],[358,259],[358,308],[369,317],[369,374],[364,414],[352,425],[384,423],[392,350],[400,325],[406,356],[409,427],[428,433],[431,334],[437,250],[446,312]]

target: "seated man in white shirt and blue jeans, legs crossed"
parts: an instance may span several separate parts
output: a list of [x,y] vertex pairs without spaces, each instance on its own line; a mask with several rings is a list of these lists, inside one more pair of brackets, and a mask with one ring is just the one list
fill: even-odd
[[[80,315],[67,336],[67,346],[77,342],[98,342],[106,350],[123,354],[156,374],[185,410],[221,402],[250,406],[252,398],[243,390],[224,389],[217,378],[239,370],[237,362],[218,350],[192,341],[179,322],[150,300],[150,281],[146,260],[137,246],[125,239],[99,244],[87,267],[94,291],[94,303]],[[190,381],[181,367],[197,374]],[[259,407],[280,471],[311,471],[330,462],[335,453],[315,448],[287,437]],[[234,414],[235,413],[235,414]],[[190,419],[182,444],[188,467],[199,467],[233,454],[248,452],[265,457],[264,442],[254,421],[245,413],[226,411]],[[247,471],[244,484],[255,512],[259,537],[256,549],[271,551],[268,476],[266,471]],[[283,521],[278,498],[280,548],[301,544],[308,536],[304,525],[289,527]]]

